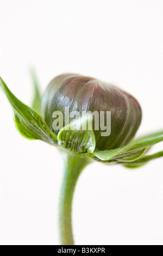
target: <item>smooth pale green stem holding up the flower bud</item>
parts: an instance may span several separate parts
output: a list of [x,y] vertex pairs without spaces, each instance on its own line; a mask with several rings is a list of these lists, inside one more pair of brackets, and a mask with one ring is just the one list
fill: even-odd
[[80,173],[89,161],[86,157],[71,152],[62,151],[62,156],[64,156],[64,179],[59,202],[60,243],[74,245],[71,221],[73,192]]

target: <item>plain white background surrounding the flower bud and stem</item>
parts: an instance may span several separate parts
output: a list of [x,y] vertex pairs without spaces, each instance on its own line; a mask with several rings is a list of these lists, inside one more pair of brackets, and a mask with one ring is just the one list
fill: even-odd
[[[162,1],[0,1],[0,76],[30,105],[29,66],[42,92],[64,72],[100,78],[139,100],[137,135],[162,129]],[[61,156],[21,137],[0,90],[0,243],[58,245]],[[153,152],[162,150],[156,145]],[[73,202],[78,245],[163,244],[163,159],[137,170],[88,166]]]

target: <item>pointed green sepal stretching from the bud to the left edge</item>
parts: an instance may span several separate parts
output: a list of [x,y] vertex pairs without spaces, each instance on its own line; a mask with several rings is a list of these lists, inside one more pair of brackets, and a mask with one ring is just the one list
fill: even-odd
[[49,144],[57,143],[57,136],[49,129],[41,115],[18,100],[1,77],[0,86],[12,106],[15,126],[21,135],[28,139],[41,139]]

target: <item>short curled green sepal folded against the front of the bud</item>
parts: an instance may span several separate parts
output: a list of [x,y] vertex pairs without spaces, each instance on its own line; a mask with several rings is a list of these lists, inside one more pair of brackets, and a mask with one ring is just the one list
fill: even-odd
[[[65,125],[58,133],[58,141],[62,147],[80,154],[93,153],[96,147],[96,139],[92,130],[82,130],[82,127],[89,127],[92,122],[92,115],[85,114],[76,118],[70,124]],[[75,127],[75,130],[72,129]]]

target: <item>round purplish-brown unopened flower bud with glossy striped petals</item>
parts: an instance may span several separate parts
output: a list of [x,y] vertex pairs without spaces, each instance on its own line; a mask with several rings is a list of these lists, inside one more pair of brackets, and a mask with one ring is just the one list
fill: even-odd
[[130,94],[95,78],[74,74],[57,76],[49,83],[43,95],[42,111],[47,125],[56,135],[59,130],[53,129],[54,112],[62,112],[63,126],[71,112],[80,115],[91,112],[95,117],[96,150],[128,144],[139,128],[142,116],[139,103]]

